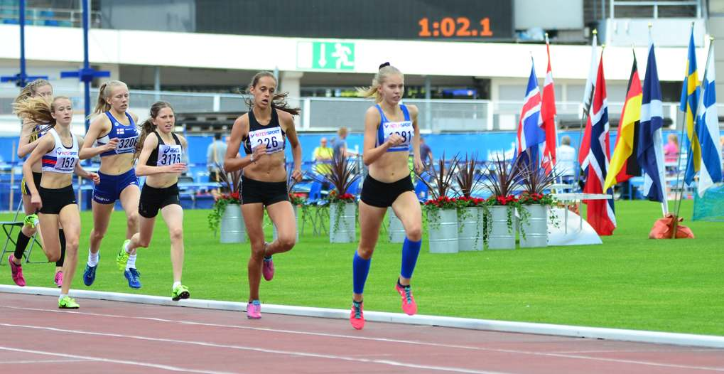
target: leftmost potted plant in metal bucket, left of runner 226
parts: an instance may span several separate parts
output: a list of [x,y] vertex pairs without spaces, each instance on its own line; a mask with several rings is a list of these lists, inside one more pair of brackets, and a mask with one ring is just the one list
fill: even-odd
[[[216,165],[224,170],[221,165]],[[214,196],[214,207],[209,213],[209,228],[220,231],[222,243],[244,243],[246,230],[241,214],[241,170],[233,173],[219,173],[221,193]]]

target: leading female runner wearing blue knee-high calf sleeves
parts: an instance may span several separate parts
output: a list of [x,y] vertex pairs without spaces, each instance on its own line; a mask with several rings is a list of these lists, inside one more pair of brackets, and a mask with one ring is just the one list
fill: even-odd
[[390,63],[380,65],[372,86],[359,90],[365,97],[374,97],[376,104],[364,117],[363,162],[369,174],[362,185],[359,203],[360,244],[353,257],[353,302],[350,323],[358,330],[364,326],[362,295],[369,273],[374,246],[379,236],[387,207],[392,207],[405,228],[402,267],[395,290],[402,298],[403,312],[414,315],[417,304],[412,296],[410,280],[420,253],[422,213],[410,178],[408,152],[412,146],[414,167],[422,171],[418,110],[414,105],[400,104],[405,92],[405,78]]

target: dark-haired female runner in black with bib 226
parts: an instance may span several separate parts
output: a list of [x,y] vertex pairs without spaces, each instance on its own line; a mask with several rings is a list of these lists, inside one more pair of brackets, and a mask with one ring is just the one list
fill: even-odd
[[[301,180],[302,147],[294,128],[294,115],[298,108],[289,108],[287,94],[277,94],[277,80],[271,72],[258,72],[251,80],[247,93],[249,112],[238,117],[231,130],[231,138],[224,159],[224,170],[243,169],[241,182],[242,214],[246,232],[251,241],[248,262],[249,302],[246,316],[261,318],[259,283],[274,277],[271,255],[287,252],[295,244],[297,223],[287,194],[285,167],[285,138],[292,146],[294,169],[292,178]],[[237,157],[243,142],[246,157]],[[264,208],[277,227],[277,240],[264,242]],[[262,269],[263,268],[263,269]]]

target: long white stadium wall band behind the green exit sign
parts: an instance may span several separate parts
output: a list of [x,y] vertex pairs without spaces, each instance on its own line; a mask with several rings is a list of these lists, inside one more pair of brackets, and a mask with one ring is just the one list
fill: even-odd
[[[19,30],[0,25],[0,59],[19,58]],[[231,36],[200,33],[162,33],[135,30],[90,31],[90,59],[95,64],[206,67],[236,70],[305,71],[298,68],[297,44],[308,39]],[[26,56],[33,61],[75,62],[83,59],[82,33],[78,28],[26,28]],[[466,43],[440,41],[373,41],[355,43],[353,72],[373,73],[390,61],[405,73],[416,75],[526,78],[530,56],[542,77],[546,67],[542,44]],[[705,58],[706,49],[697,51]],[[589,46],[551,46],[556,79],[585,79],[589,70]],[[636,49],[639,70],[645,71],[646,49]],[[681,80],[686,67],[686,48],[657,49],[659,78]],[[606,77],[626,80],[631,69],[631,49],[608,47]]]

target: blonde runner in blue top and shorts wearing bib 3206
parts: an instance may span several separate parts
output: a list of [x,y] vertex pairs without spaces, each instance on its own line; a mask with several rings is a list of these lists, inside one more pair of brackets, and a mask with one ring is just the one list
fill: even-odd
[[[88,265],[83,273],[83,283],[90,286],[96,279],[98,251],[108,230],[114,204],[121,201],[126,212],[126,241],[116,257],[119,270],[123,270],[128,286],[140,288],[140,273],[135,267],[135,251],[129,253],[126,246],[133,234],[138,233],[138,199],[140,188],[133,169],[138,143],[138,117],[128,112],[128,87],[118,80],[109,80],[98,88],[98,102],[85,135],[80,159],[101,156],[101,183],[93,189],[93,230],[90,231]],[[97,146],[94,146],[97,144]]]

